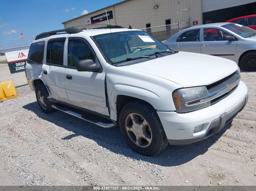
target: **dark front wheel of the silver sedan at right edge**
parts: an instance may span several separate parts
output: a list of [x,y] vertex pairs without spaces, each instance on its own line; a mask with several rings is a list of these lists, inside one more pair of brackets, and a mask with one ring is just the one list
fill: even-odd
[[241,58],[240,67],[244,71],[256,71],[256,52],[246,53]]

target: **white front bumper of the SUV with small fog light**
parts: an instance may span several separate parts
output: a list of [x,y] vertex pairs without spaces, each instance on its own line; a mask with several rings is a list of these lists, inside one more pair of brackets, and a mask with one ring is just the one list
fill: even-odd
[[[247,87],[240,81],[238,88],[218,103],[189,113],[157,111],[171,145],[187,145],[201,141],[220,131],[245,107]],[[199,132],[194,127],[204,124]]]

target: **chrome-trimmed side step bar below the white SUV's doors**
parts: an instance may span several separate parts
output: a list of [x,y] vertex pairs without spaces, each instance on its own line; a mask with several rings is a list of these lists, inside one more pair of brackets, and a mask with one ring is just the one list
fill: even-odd
[[75,116],[75,117],[78,117],[80,119],[84,119],[85,121],[87,122],[90,122],[90,123],[93,123],[95,125],[98,125],[98,126],[101,126],[101,127],[104,127],[104,128],[111,128],[111,127],[114,127],[115,124],[114,123],[102,123],[102,122],[96,122],[96,121],[93,121],[91,119],[86,119],[84,116],[78,114],[78,113],[75,113],[73,111],[69,111],[67,110],[66,108],[64,107],[61,107],[61,106],[57,106],[57,105],[52,105],[53,108],[55,108],[56,110],[60,110],[60,111],[63,111],[65,113],[68,113],[72,116]]

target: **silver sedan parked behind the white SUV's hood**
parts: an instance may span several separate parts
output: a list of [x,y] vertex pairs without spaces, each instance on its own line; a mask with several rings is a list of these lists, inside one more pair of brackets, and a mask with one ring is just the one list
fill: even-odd
[[230,59],[244,71],[256,71],[256,30],[240,24],[212,23],[190,27],[163,43],[177,51]]

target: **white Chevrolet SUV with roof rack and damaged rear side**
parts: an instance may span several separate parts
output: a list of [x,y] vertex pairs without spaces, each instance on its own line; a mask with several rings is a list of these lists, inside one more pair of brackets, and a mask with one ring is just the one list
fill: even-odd
[[148,33],[123,27],[39,34],[25,73],[43,112],[119,126],[128,145],[148,156],[168,142],[208,138],[248,99],[235,62],[169,50]]

